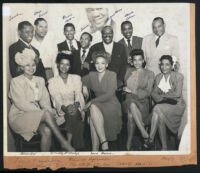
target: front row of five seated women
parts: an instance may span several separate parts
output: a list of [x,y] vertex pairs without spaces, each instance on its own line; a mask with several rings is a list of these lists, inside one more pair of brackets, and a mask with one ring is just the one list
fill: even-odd
[[[183,76],[173,71],[172,57],[164,55],[160,59],[161,73],[154,73],[144,68],[142,50],[131,52],[133,67],[127,69],[123,91],[126,95],[122,103],[128,114],[127,150],[131,143],[135,127],[143,137],[143,147],[151,148],[158,130],[162,150],[167,150],[166,127],[177,133],[181,117],[185,110],[182,97]],[[84,119],[88,114],[92,150],[109,150],[108,141],[115,141],[122,127],[121,104],[116,97],[117,77],[107,70],[110,56],[106,52],[95,52],[93,61],[96,71],[82,77],[70,74],[72,56],[58,54],[59,76],[49,80],[48,90],[55,109],[51,108],[50,97],[41,77],[34,76],[35,54],[25,49],[15,56],[16,63],[23,70],[23,75],[11,80],[9,97],[12,106],[8,120],[10,127],[25,140],[29,141],[36,133],[41,135],[41,151],[49,151],[52,133],[58,139],[61,148],[66,151],[80,150],[84,145]],[[90,90],[95,98],[89,98]],[[84,99],[85,97],[85,99]],[[149,98],[154,104],[149,112]],[[85,103],[85,100],[88,102]],[[67,139],[57,124],[63,119]],[[150,134],[145,125],[151,121]],[[61,124],[62,124],[61,123]]]

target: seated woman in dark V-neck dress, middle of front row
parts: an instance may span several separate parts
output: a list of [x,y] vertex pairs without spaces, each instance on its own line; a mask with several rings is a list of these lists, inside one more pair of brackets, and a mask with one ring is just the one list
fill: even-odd
[[106,69],[111,61],[108,53],[94,52],[92,59],[97,71],[82,78],[83,84],[96,96],[85,105],[85,110],[90,109],[92,151],[98,151],[100,144],[101,150],[109,150],[108,141],[117,139],[122,125],[121,105],[115,95],[117,77],[115,72]]

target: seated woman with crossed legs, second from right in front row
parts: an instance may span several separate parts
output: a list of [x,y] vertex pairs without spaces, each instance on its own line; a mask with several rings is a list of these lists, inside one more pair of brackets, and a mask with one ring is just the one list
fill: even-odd
[[133,67],[127,69],[124,78],[126,86],[123,88],[126,93],[123,105],[128,113],[127,150],[131,150],[136,126],[144,139],[144,146],[148,142],[149,135],[145,130],[145,125],[147,125],[149,120],[149,96],[154,83],[154,73],[144,69],[143,51],[141,49],[134,49],[130,56]]

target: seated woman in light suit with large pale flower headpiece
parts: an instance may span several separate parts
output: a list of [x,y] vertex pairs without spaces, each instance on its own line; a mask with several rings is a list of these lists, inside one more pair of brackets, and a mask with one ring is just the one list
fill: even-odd
[[8,115],[9,124],[26,141],[30,141],[38,132],[41,135],[41,151],[50,151],[52,132],[63,150],[74,151],[54,120],[55,111],[51,109],[44,79],[33,75],[36,71],[35,56],[31,49],[24,49],[22,53],[15,55],[15,62],[23,70],[23,74],[11,79],[9,97],[12,106]]

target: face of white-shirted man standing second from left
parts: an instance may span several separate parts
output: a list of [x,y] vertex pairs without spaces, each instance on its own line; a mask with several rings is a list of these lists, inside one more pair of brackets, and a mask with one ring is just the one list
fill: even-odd
[[35,34],[39,37],[44,38],[48,32],[48,25],[47,22],[42,20],[35,26]]

